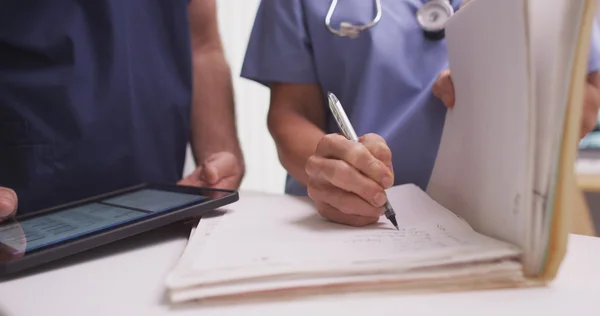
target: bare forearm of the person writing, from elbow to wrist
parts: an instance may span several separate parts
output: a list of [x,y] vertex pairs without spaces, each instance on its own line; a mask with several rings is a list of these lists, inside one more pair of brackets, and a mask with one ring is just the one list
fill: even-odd
[[277,146],[281,164],[290,175],[306,186],[308,176],[304,165],[314,154],[325,133],[306,117],[294,112],[277,114],[275,118],[269,119],[269,130]]

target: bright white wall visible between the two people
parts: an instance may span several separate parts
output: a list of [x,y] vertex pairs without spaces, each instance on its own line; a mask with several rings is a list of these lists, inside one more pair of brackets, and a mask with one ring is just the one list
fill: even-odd
[[[280,0],[287,1],[287,0]],[[242,190],[283,193],[285,171],[267,129],[269,91],[240,78],[246,45],[260,0],[218,0],[219,27],[235,89],[238,134],[246,161]],[[184,173],[194,169],[190,151]]]

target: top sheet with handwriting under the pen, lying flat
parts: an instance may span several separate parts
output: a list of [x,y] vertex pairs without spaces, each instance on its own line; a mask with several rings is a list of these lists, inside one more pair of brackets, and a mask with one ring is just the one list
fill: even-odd
[[427,261],[456,253],[517,253],[510,245],[477,234],[416,186],[399,186],[388,194],[400,231],[383,217],[371,227],[332,223],[302,199],[274,196],[255,205],[246,201],[248,210],[223,216],[198,251],[194,267],[297,272],[365,261]]

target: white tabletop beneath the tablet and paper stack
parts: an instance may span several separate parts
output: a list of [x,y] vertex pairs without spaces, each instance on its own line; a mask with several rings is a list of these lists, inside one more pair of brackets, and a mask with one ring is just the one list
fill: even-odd
[[189,227],[168,227],[4,281],[0,315],[600,315],[600,238],[583,236],[571,237],[560,275],[548,288],[173,308],[163,281],[188,233]]

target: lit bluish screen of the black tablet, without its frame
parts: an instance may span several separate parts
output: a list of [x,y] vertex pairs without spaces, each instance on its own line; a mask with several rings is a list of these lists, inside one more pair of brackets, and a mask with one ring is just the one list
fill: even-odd
[[30,252],[204,199],[194,194],[141,189],[18,223],[0,223],[0,243],[20,253]]

